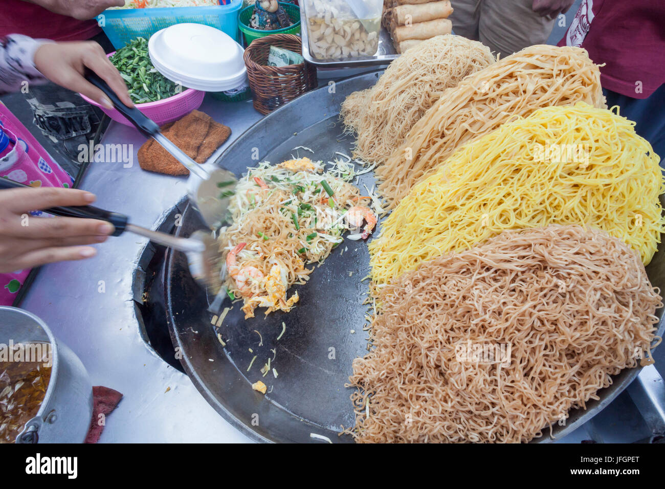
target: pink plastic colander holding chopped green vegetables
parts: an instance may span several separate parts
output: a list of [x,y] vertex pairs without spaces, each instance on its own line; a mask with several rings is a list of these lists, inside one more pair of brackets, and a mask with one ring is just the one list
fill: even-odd
[[[108,54],[107,57],[110,57],[114,54],[115,51]],[[82,94],[81,96],[86,102],[102,109],[104,114],[108,115],[116,122],[120,122],[120,124],[124,124],[126,126],[134,127],[134,124],[124,118],[124,116],[122,116],[118,110],[114,108],[106,108],[96,100],[91,100]],[[164,98],[164,100],[148,102],[146,104],[136,104],[136,108],[143,112],[146,117],[154,120],[158,125],[162,126],[168,122],[178,120],[182,116],[192,112],[192,110],[199,108],[201,103],[203,103],[203,96],[205,96],[205,92],[194,90],[194,88],[187,88],[179,94],[170,96],[169,98]]]

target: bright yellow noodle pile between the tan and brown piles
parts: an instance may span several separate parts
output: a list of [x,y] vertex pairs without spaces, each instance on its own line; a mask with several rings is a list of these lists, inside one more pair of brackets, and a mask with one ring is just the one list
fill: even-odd
[[588,224],[649,263],[664,230],[658,155],[634,122],[589,104],[547,107],[466,144],[382,224],[371,276],[389,283],[420,263],[503,230]]

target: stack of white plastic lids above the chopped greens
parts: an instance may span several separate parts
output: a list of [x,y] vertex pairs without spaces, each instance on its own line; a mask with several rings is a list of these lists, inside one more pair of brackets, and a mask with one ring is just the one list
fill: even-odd
[[202,24],[176,24],[148,41],[154,67],[188,88],[223,92],[247,83],[243,48],[219,29]]

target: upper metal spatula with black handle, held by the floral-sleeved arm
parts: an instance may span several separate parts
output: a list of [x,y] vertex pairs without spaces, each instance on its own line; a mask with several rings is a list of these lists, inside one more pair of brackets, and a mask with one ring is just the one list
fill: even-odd
[[146,117],[138,108],[123,104],[110,86],[96,73],[86,70],[85,77],[90,83],[102,90],[113,102],[118,112],[132,122],[142,134],[154,138],[176,160],[190,170],[190,178],[187,180],[187,193],[190,202],[198,208],[205,224],[211,229],[219,228],[224,221],[229,206],[229,196],[233,193],[235,184],[237,184],[235,175],[213,162],[198,164],[172,141],[168,140],[160,132],[160,127],[154,120]]

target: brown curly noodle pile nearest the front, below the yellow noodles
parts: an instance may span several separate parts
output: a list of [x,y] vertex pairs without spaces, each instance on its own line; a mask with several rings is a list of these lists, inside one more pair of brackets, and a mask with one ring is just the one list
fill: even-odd
[[[375,349],[350,377],[358,442],[541,436],[650,359],[662,305],[634,251],[579,226],[505,231],[405,273],[378,301]],[[467,341],[510,345],[509,363],[458,361]]]

